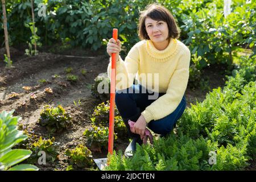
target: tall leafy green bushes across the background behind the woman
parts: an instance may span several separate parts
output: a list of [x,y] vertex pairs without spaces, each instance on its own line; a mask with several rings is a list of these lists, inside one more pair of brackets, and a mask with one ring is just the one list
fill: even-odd
[[[61,43],[97,50],[118,28],[122,52],[125,56],[139,41],[137,25],[139,12],[155,1],[90,0],[49,1],[46,16],[35,16],[39,42],[44,45]],[[200,57],[200,68],[208,64],[226,64],[232,69],[233,52],[237,48],[249,48],[256,52],[255,1],[235,1],[232,12],[225,18],[222,0],[168,0],[157,1],[167,7],[180,26],[180,39],[189,46],[192,54]],[[42,1],[35,1],[35,14]],[[26,43],[31,32],[24,24],[30,23],[30,1],[6,2],[11,42]],[[2,10],[0,10],[0,13]],[[0,30],[0,32],[3,30]],[[0,38],[3,42],[3,38]]]

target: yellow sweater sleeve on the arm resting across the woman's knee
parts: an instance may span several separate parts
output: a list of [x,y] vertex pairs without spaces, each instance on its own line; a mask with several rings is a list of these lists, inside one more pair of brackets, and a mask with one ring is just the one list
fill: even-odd
[[142,112],[147,123],[153,119],[156,121],[166,117],[180,104],[188,84],[190,57],[191,54],[187,49],[177,63],[166,94],[152,102]]

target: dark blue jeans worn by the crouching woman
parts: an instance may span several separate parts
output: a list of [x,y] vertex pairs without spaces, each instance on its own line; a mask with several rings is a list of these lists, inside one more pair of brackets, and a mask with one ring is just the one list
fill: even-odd
[[[146,88],[143,88],[146,90]],[[133,90],[132,93],[129,93],[129,90]],[[149,100],[148,96],[152,96],[155,93],[148,93],[148,90],[146,90],[146,93],[142,93],[142,85],[134,85],[131,86],[131,88],[127,88],[124,90],[117,90],[115,92],[115,105],[117,106],[117,109],[121,115],[122,118],[125,118],[124,120],[127,120],[129,118],[134,118],[135,115],[138,115],[138,117],[141,115],[141,112],[146,109],[147,106],[149,106],[154,100]],[[159,93],[159,96],[163,96],[165,93]],[[174,125],[176,124],[177,120],[181,117],[186,107],[186,100],[185,95],[183,96],[180,104],[177,106],[177,108],[169,115],[162,119],[158,120],[152,120],[148,123],[148,128],[154,133],[166,136],[169,134],[172,129],[174,129]],[[139,111],[138,111],[139,108]],[[138,113],[139,112],[139,113]],[[138,118],[137,117],[137,118]],[[136,122],[137,119],[134,119]],[[127,121],[125,121],[127,122]],[[127,127],[127,123],[126,123]]]

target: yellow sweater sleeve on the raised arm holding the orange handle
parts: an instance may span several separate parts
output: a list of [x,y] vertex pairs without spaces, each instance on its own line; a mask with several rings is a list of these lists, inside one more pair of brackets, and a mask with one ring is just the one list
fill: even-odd
[[[111,71],[112,71],[112,61],[110,57],[110,63],[108,65],[108,77],[111,80]],[[116,62],[115,69],[115,89],[122,90],[129,88],[133,85],[134,78],[138,72],[139,68],[139,51],[137,47],[132,47],[128,55],[125,58],[125,61],[119,56],[118,61]]]

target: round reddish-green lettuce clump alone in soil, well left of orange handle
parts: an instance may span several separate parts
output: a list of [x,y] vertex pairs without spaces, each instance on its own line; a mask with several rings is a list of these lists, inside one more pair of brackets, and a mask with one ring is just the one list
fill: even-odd
[[50,133],[61,132],[71,125],[70,114],[62,106],[46,105],[40,113],[39,125],[46,126]]

